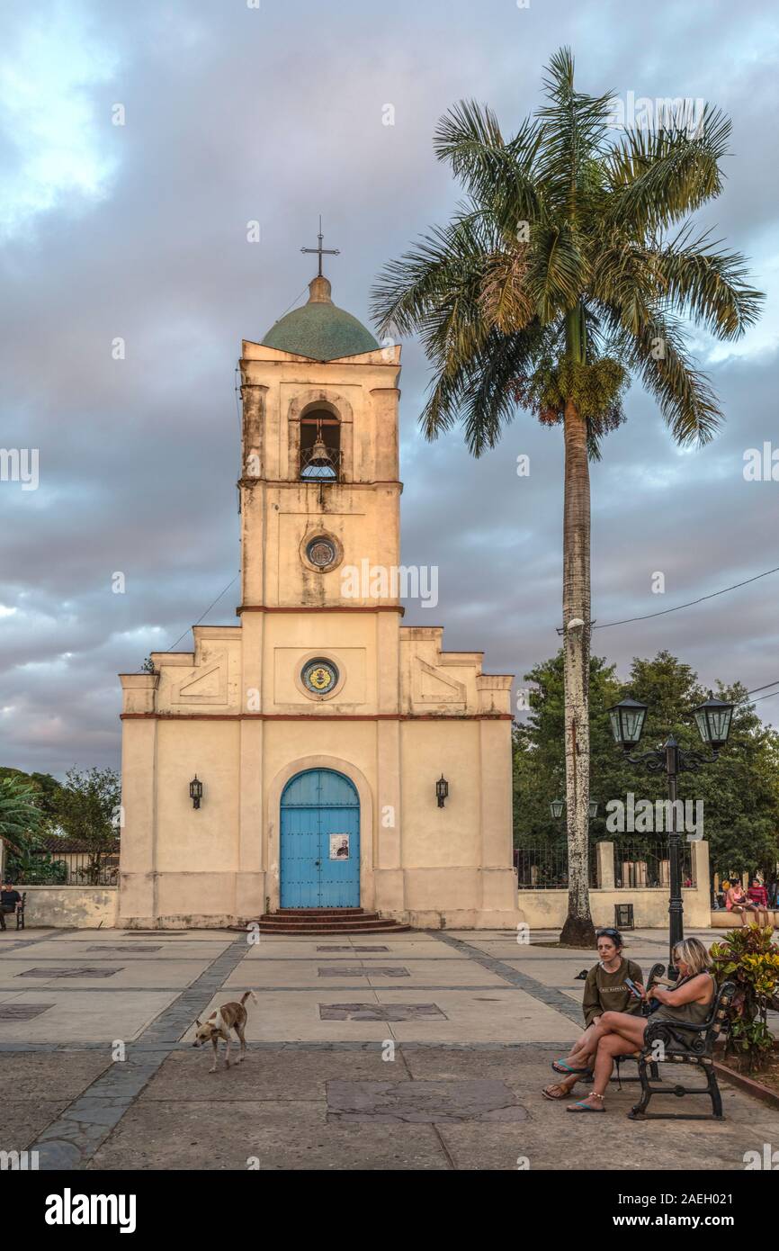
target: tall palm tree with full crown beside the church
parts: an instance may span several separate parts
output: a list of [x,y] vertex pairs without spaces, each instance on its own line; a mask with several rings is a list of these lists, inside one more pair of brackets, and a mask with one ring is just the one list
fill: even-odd
[[631,375],[679,444],[721,419],[690,359],[681,319],[736,339],[759,313],[744,259],[688,215],[719,195],[729,120],[709,106],[665,129],[614,139],[611,94],[574,89],[568,49],[551,59],[548,104],[505,140],[495,115],[461,101],[434,139],[465,189],[374,288],[381,333],[420,332],[433,365],[429,439],[463,425],[474,455],[518,407],[561,425],[565,447],[563,637],[569,914],[560,940],[591,945],[588,893],[590,485],[588,459],[624,420]]

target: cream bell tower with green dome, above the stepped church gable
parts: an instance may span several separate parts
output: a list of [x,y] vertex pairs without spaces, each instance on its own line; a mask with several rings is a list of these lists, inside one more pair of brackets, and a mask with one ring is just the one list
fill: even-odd
[[319,273],[306,304],[244,342],[240,370],[240,610],[396,605],[396,579],[371,570],[400,555],[400,348]]

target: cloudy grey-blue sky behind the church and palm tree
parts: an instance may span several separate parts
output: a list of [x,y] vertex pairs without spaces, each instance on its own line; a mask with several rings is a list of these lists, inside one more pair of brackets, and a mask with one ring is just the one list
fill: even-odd
[[[234,368],[241,338],[300,301],[318,214],[341,250],[335,303],[368,322],[381,265],[458,198],[433,155],[440,114],[475,98],[511,133],[563,43],[583,90],[730,114],[725,193],[703,220],[769,296],[741,343],[695,340],[726,414],[705,449],[679,452],[630,390],[593,467],[593,615],[658,612],[779,565],[779,482],[743,474],[748,448],[779,448],[778,40],[756,0],[6,4],[0,447],[38,449],[39,485],[0,482],[0,763],[119,763],[116,673],[179,641],[238,572]],[[406,622],[443,624],[448,648],[521,677],[558,647],[560,432],[519,413],[480,462],[459,435],[426,444],[416,343],[403,360],[403,557],[440,579],[438,607]],[[705,683],[754,688],[779,679],[778,589],[773,574],[593,647],[623,673],[668,647]],[[233,588],[205,620],[234,624],[236,603]],[[776,721],[779,698],[758,708]]]

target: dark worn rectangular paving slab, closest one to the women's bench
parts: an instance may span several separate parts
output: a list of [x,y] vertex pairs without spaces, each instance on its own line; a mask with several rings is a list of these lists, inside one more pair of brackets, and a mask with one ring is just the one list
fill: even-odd
[[328,1082],[328,1120],[419,1125],[526,1121],[528,1112],[500,1081]]

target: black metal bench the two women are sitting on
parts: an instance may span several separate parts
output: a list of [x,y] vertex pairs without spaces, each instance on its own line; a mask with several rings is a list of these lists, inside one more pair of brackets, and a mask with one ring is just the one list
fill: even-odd
[[[644,1046],[635,1052],[641,1083],[641,1098],[628,1113],[631,1121],[721,1121],[723,1100],[714,1070],[714,1043],[721,1041],[729,1026],[728,1010],[735,995],[734,982],[723,982],[714,997],[711,1011],[703,1025],[686,1021],[653,1021],[649,1018]],[[658,1046],[659,1043],[659,1046]],[[706,1078],[705,1086],[653,1086],[658,1065],[694,1065]],[[653,1072],[654,1070],[654,1072]],[[653,1095],[708,1095],[711,1112],[648,1112]]]

